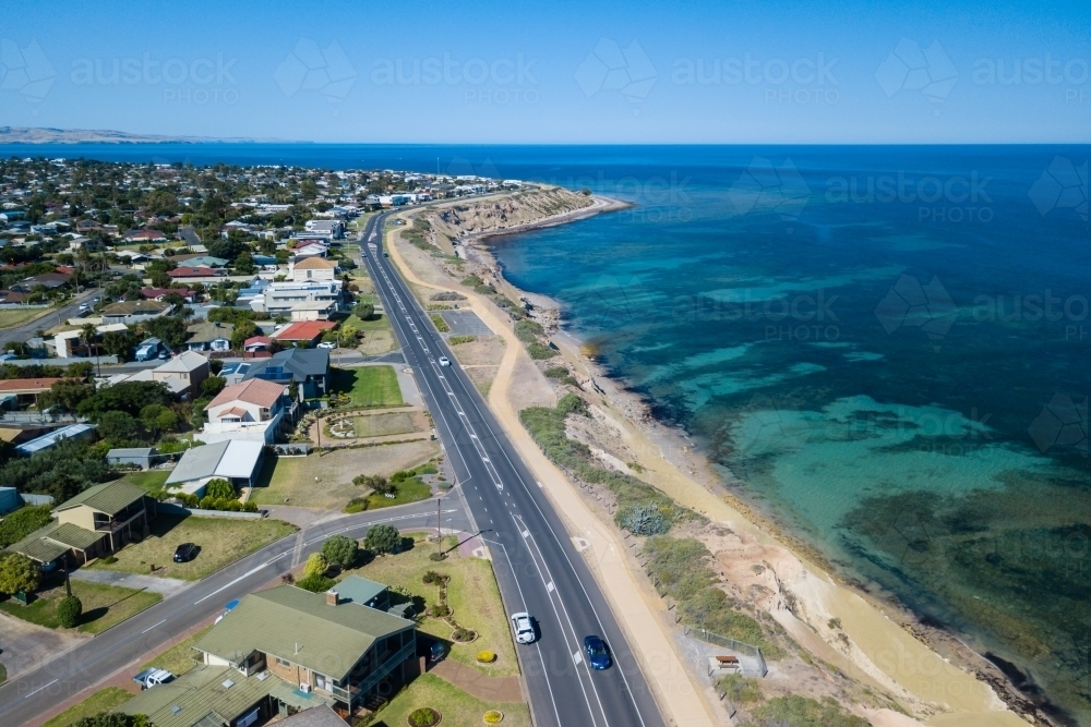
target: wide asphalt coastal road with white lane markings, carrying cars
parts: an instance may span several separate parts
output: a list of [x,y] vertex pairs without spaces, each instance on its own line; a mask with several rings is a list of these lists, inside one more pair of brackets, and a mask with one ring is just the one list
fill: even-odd
[[[504,602],[538,622],[537,643],[519,646],[536,726],[660,727],[647,681],[552,505],[466,374],[436,363],[453,355],[383,256],[384,218],[370,219],[360,238],[368,270],[490,546]],[[582,656],[588,634],[610,644],[612,668],[588,668]]]

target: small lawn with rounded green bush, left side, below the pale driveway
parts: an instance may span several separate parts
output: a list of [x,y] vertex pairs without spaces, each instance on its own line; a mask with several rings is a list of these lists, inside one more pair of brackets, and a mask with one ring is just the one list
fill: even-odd
[[[158,593],[86,581],[72,581],[72,595],[83,603],[83,617],[76,629],[84,633],[105,631],[163,601]],[[0,610],[47,629],[59,628],[57,607],[65,596],[64,584],[41,591],[29,606],[11,598],[0,602]]]

